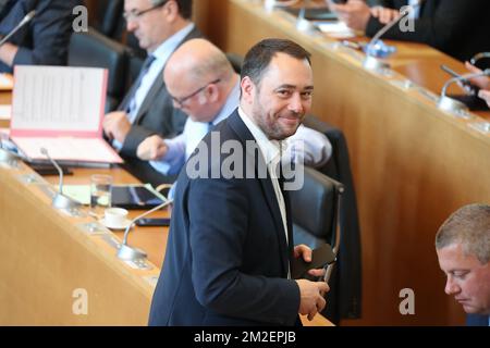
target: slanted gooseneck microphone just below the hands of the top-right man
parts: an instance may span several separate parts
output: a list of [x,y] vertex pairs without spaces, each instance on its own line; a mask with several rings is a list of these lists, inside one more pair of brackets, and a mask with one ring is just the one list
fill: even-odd
[[394,25],[396,25],[400,21],[402,21],[405,16],[407,16],[413,10],[414,10],[413,5],[404,7],[403,10],[400,12],[400,16],[392,20],[390,23],[383,26],[378,33],[376,33],[376,35],[372,37],[369,44],[366,45],[364,49],[366,52],[366,59],[363,62],[364,67],[373,71],[380,71],[390,67],[390,64],[381,62],[380,60],[378,60],[378,58],[387,57],[388,54],[393,53],[394,48],[390,48],[387,45],[384,45],[380,40],[380,38],[384,34],[387,34],[387,32],[390,30]]

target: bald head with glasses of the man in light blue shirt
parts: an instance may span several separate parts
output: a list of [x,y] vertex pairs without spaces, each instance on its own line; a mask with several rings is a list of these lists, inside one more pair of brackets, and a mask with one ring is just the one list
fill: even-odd
[[195,121],[209,122],[224,104],[236,74],[219,48],[205,39],[193,39],[169,59],[163,79],[176,108]]

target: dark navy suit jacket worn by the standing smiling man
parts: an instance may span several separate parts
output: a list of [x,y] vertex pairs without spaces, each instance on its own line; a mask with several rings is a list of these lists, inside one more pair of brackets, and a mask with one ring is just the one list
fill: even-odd
[[[245,141],[254,140],[236,111],[217,126],[215,136],[216,132],[219,144],[235,140],[245,149]],[[203,141],[211,151],[211,134]],[[189,179],[187,171],[196,152],[179,176],[149,324],[296,324],[299,289],[286,279],[292,248],[271,179]],[[219,170],[228,156],[204,164],[204,172]],[[261,154],[255,161],[247,157],[250,173],[256,173],[258,161],[265,165]],[[291,219],[287,225],[291,246]]]

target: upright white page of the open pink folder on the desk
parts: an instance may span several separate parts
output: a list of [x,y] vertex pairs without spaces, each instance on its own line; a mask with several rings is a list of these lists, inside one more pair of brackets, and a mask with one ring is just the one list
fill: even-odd
[[97,132],[103,116],[106,71],[91,67],[15,67],[12,130]]

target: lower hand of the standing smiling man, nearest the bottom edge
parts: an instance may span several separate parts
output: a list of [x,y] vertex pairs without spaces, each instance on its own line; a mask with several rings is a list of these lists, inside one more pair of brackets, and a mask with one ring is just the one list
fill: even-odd
[[323,295],[330,288],[324,282],[298,279],[296,283],[301,294],[299,314],[308,315],[308,320],[311,321],[327,304]]

